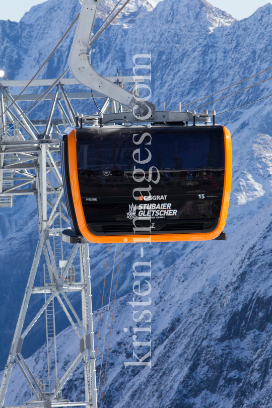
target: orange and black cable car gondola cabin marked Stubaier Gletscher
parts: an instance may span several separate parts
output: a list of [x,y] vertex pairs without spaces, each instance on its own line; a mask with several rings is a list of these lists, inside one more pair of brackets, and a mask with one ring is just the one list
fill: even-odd
[[60,139],[75,238],[202,241],[222,233],[232,164],[226,127],[195,121],[78,126]]

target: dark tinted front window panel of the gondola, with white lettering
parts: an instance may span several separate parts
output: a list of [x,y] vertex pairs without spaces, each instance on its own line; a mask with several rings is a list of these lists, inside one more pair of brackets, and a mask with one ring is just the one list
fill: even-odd
[[77,163],[88,225],[128,225],[138,217],[151,219],[156,233],[177,220],[219,218],[222,126],[78,130]]

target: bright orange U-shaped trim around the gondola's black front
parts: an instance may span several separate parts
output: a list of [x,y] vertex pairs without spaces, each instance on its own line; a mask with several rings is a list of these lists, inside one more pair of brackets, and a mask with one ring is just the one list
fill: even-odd
[[223,231],[228,215],[230,192],[231,192],[231,175],[232,175],[232,150],[231,150],[231,134],[229,130],[223,126],[224,143],[225,143],[225,178],[224,192],[222,198],[222,207],[219,217],[219,222],[213,232],[208,233],[190,233],[190,234],[154,234],[148,235],[108,235],[97,236],[93,235],[87,226],[85,215],[82,206],[82,200],[79,188],[78,165],[77,165],[77,133],[73,129],[68,135],[68,157],[69,157],[69,173],[74,208],[80,232],[90,242],[97,244],[111,243],[135,243],[135,242],[177,242],[177,241],[208,241],[217,238]]

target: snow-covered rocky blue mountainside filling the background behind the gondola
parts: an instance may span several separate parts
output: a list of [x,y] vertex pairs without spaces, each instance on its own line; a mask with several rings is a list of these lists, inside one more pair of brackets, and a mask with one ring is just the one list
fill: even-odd
[[[97,27],[114,4],[116,1],[101,0]],[[115,74],[117,66],[122,74],[131,75],[133,55],[151,52],[151,101],[158,109],[162,109],[163,102],[169,110],[177,108],[180,101],[182,105],[193,102],[272,65],[270,3],[242,21],[235,21],[205,0],[164,0],[156,7],[151,0],[131,0],[130,9],[124,10],[94,44],[94,66],[103,75]],[[78,0],[48,0],[33,7],[19,23],[0,21],[0,53],[8,78],[30,78],[79,11]],[[41,74],[43,78],[57,78],[67,67],[72,38],[73,30],[50,59]],[[196,108],[270,76],[268,71],[184,109]],[[271,88],[270,81],[266,81],[200,109],[207,107],[221,113],[270,95]],[[132,327],[136,323],[127,302],[133,297],[131,264],[139,259],[143,245],[123,246],[105,408],[137,407],[143,402],[150,408],[270,408],[270,103],[265,99],[217,119],[231,130],[233,142],[228,240],[144,245],[144,259],[152,259],[151,369],[125,369],[123,364],[136,361],[132,356]],[[82,108],[87,113],[90,106]],[[45,117],[47,109],[49,105],[43,105],[36,117]],[[13,209],[0,212],[3,366],[37,239],[34,214],[34,197],[20,197]],[[12,256],[11,241],[15,248]],[[90,245],[95,310],[101,302],[106,250],[103,245]],[[113,252],[114,245],[110,248],[110,264]],[[109,282],[110,273],[109,268]],[[37,279],[42,279],[41,270]],[[106,291],[108,297],[109,285]],[[30,305],[30,314],[35,310],[36,304]],[[96,331],[98,314],[94,315]],[[57,323],[58,331],[67,326],[59,317]],[[126,333],[124,327],[129,328]],[[38,334],[38,328],[32,337],[37,348],[45,339]],[[67,339],[68,344],[69,338],[77,342],[73,331],[66,328],[58,335],[58,342],[63,344]],[[24,353],[29,356],[30,348],[25,347]],[[59,353],[60,375],[67,354],[72,359],[77,353],[75,348]],[[42,376],[44,356],[42,347],[29,358],[37,377]],[[17,368],[13,381],[6,405],[26,400],[27,387]],[[77,399],[83,391],[79,371],[69,380],[65,392]]]

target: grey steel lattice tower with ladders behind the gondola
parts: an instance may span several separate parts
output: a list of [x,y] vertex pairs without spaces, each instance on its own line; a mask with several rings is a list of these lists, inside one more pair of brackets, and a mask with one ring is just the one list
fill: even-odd
[[[108,79],[123,88],[132,88],[138,82],[144,81],[144,77],[120,76],[108,77]],[[40,95],[21,95],[10,107],[16,98],[16,95],[11,94],[10,87],[24,86],[25,83],[28,81],[2,81],[0,84],[0,113],[7,110],[0,118],[0,207],[12,207],[14,195],[34,195],[37,204],[39,239],[0,388],[0,408],[4,405],[14,364],[18,364],[30,387],[31,400],[25,403],[31,403],[35,408],[82,405],[97,408],[89,244],[75,244],[67,259],[63,259],[61,232],[67,229],[67,224],[70,222],[63,194],[60,145],[57,139],[60,132],[59,126],[63,125],[64,128],[75,126],[75,112],[71,100],[89,99],[92,95],[90,92],[66,93],[64,86],[79,83],[75,79],[62,79],[56,84],[54,93],[43,95],[43,100],[52,101],[47,119],[30,120],[23,113],[20,103],[36,100]],[[34,80],[31,86],[50,86],[53,83],[54,80]],[[103,98],[96,93],[94,96]],[[54,117],[55,108],[58,108],[60,118]],[[101,108],[103,113],[125,110],[127,108],[117,102],[103,98]],[[42,126],[42,132],[38,130],[38,126]],[[76,274],[72,263],[78,251],[80,252],[80,274]],[[43,265],[44,286],[34,287],[42,253],[46,261]],[[67,296],[72,292],[81,292],[82,320]],[[37,294],[44,296],[44,304],[25,327],[30,298]],[[61,378],[58,377],[57,371],[54,314],[56,302],[60,304],[79,337],[80,351]],[[43,312],[45,312],[46,326],[47,376],[36,378],[21,351],[24,338]],[[85,400],[76,402],[64,400],[62,389],[81,362],[84,366]],[[16,406],[23,408],[26,405]]]

